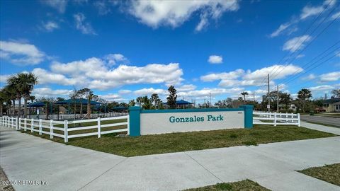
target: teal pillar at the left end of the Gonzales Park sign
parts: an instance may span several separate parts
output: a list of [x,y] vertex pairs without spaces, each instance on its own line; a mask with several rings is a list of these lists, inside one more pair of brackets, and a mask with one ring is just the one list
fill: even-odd
[[129,108],[130,115],[130,136],[140,136],[140,111],[142,108],[133,106]]

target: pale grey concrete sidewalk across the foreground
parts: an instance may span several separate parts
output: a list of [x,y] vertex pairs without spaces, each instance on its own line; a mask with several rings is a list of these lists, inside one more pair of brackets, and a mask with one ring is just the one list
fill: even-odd
[[0,165],[16,190],[183,190],[246,178],[271,190],[339,190],[297,173],[340,163],[340,137],[125,158],[1,127]]

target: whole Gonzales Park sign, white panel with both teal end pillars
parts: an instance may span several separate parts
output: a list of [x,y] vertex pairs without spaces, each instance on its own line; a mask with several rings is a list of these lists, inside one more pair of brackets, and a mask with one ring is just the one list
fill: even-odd
[[130,107],[130,136],[253,127],[253,105],[240,108],[142,110]]

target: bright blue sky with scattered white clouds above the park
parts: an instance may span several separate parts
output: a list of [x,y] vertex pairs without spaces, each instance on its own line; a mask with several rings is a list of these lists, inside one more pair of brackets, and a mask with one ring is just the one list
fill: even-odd
[[0,8],[1,86],[31,71],[37,97],[88,87],[107,100],[165,98],[174,85],[179,98],[197,103],[210,93],[212,102],[242,91],[260,99],[267,74],[271,90],[293,96],[340,87],[335,0],[1,1]]

